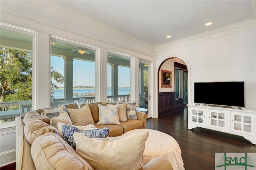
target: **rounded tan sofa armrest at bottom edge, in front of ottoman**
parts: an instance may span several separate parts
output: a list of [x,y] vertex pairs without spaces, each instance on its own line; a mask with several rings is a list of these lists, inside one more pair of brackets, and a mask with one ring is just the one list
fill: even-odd
[[170,162],[163,157],[156,157],[150,160],[146,165],[144,165],[140,170],[172,170],[172,165]]

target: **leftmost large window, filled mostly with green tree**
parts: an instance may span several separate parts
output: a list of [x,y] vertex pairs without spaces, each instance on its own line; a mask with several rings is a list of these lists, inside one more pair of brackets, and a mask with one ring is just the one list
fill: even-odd
[[0,123],[32,110],[32,35],[0,29]]

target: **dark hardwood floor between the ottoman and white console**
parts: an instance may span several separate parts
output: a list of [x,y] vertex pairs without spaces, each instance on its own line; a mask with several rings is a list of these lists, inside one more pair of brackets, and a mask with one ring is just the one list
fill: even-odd
[[186,170],[214,170],[215,153],[256,153],[256,146],[242,136],[204,128],[187,128],[186,108],[147,119],[146,128],[165,132],[180,145]]

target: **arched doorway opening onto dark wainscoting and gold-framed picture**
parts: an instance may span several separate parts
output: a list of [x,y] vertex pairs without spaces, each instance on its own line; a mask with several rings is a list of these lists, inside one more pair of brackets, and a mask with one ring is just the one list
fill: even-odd
[[188,104],[188,67],[178,57],[158,67],[158,116],[183,109]]

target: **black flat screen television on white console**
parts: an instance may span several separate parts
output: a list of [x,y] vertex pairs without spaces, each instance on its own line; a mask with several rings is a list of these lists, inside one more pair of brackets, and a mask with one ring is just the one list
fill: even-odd
[[245,107],[245,82],[194,83],[194,103]]

